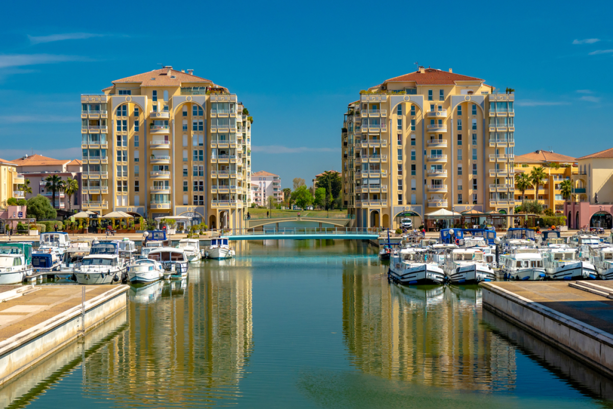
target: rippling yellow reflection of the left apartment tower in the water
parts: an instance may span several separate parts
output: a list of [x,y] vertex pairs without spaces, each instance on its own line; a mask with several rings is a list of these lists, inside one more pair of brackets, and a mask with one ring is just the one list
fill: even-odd
[[129,331],[86,362],[86,396],[117,407],[211,407],[240,396],[253,348],[251,272],[206,267],[132,290]]

